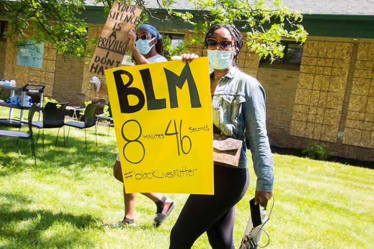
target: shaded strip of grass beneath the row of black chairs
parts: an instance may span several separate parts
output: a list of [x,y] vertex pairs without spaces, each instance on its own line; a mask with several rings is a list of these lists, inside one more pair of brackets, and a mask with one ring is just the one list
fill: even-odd
[[[1,127],[3,128],[3,126]],[[84,141],[84,131],[79,135],[70,135],[68,143],[63,147],[63,138],[60,135],[58,143],[55,145],[56,133],[45,131],[44,150],[42,149],[41,137],[35,147],[37,165],[33,163],[31,155],[30,141],[18,141],[16,139],[0,138],[0,176],[23,171],[26,168],[37,167],[39,169],[67,167],[77,164],[80,167],[89,165],[90,167],[112,167],[117,154],[117,147],[113,137],[101,136],[98,134],[98,146],[95,144],[94,130],[87,133],[88,151],[86,151]],[[34,141],[37,132],[34,132]],[[107,139],[113,139],[113,142],[107,142]]]

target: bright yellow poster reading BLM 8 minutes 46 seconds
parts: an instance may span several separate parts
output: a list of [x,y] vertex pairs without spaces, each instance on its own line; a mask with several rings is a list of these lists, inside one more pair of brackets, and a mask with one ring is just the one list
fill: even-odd
[[206,57],[105,70],[126,193],[213,194]]

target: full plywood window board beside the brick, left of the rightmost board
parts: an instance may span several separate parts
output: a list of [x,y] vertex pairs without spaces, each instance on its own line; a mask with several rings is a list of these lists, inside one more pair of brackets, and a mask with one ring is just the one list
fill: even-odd
[[353,43],[304,45],[291,135],[336,142]]

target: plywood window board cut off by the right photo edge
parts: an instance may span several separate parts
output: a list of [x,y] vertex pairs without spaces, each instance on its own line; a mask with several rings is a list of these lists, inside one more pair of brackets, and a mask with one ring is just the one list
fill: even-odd
[[374,44],[361,43],[343,143],[374,148]]

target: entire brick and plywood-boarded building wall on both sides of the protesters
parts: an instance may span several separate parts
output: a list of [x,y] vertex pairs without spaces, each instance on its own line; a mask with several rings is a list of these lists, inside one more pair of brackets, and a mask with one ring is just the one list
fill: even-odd
[[[88,38],[99,37],[102,27],[90,24]],[[185,38],[191,40],[192,36],[186,33]],[[200,55],[201,45],[190,45],[186,52]],[[18,86],[46,84],[46,96],[72,104],[77,104],[78,92],[86,93],[87,100],[108,99],[105,87],[97,92],[90,83],[94,76],[89,72],[90,58],[65,61],[46,44],[41,69],[17,66],[16,49],[9,42],[5,58],[4,77],[15,79]],[[325,143],[337,156],[374,161],[373,58],[374,39],[308,37],[300,70],[259,67],[258,56],[246,47],[239,55],[238,66],[257,77],[265,88],[272,145],[303,149],[313,142]],[[100,80],[105,86],[105,79]]]

